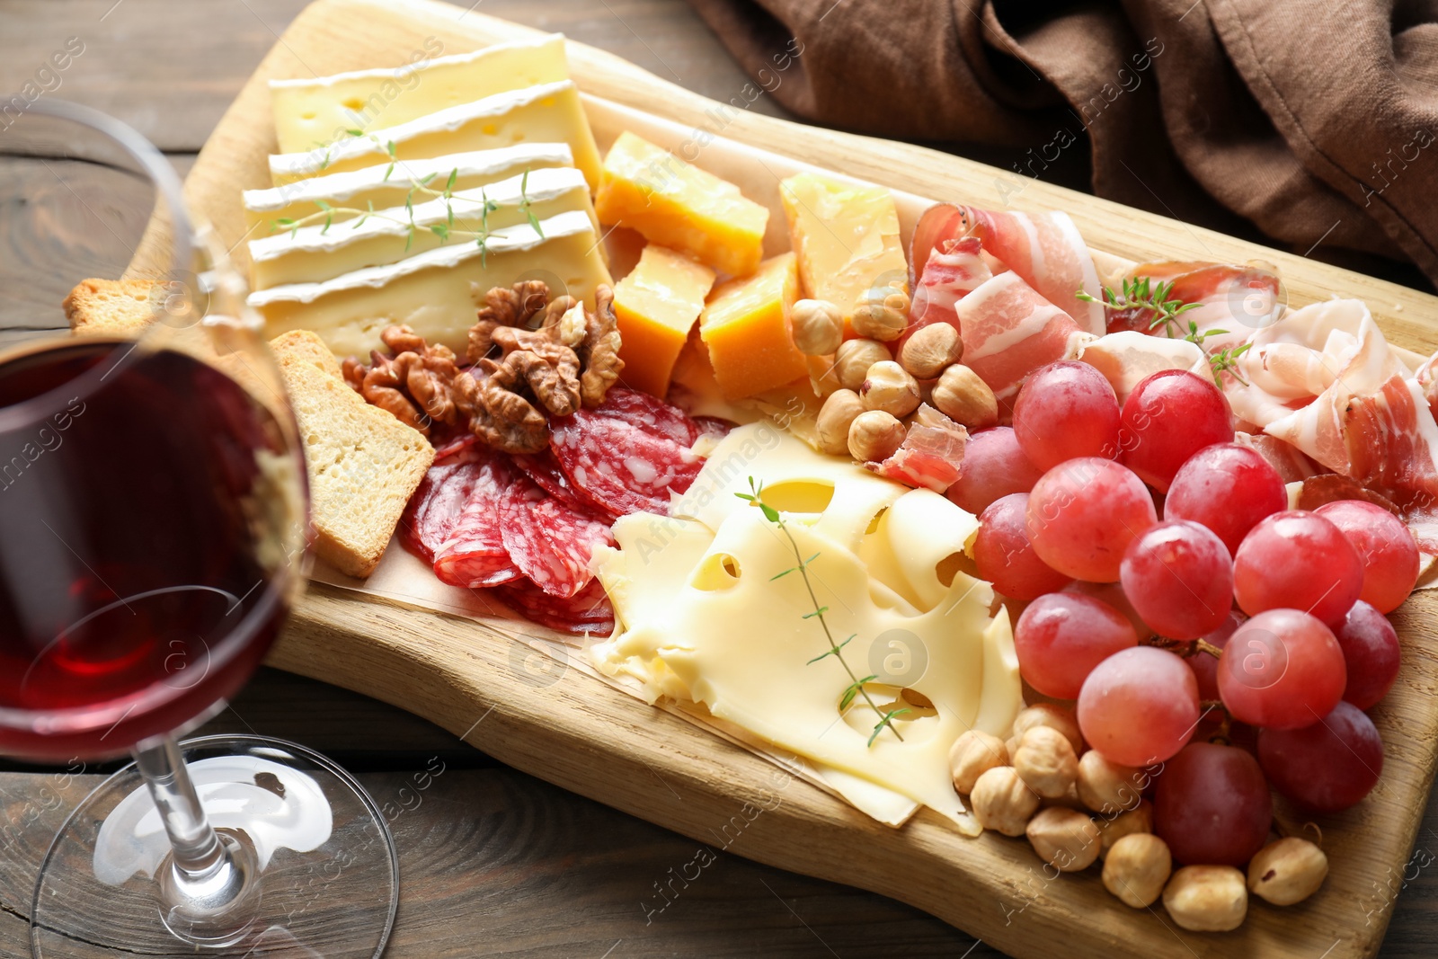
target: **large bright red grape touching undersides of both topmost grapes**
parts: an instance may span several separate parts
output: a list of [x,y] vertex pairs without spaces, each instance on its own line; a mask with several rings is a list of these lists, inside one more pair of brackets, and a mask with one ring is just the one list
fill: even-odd
[[1038,558],[1090,582],[1117,582],[1123,551],[1158,522],[1153,499],[1113,460],[1060,463],[1028,496],[1027,529]]

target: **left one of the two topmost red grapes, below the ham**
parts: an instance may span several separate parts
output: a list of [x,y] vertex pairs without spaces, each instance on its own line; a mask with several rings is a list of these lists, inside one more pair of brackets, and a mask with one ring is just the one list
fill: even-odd
[[1080,456],[1112,460],[1119,451],[1119,397],[1089,364],[1051,362],[1030,374],[1018,391],[1014,436],[1041,470]]

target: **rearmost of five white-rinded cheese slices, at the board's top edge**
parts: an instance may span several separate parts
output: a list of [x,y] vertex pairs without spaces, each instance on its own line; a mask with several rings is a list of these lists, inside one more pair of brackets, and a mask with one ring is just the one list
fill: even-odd
[[270,105],[280,152],[299,152],[345,139],[351,129],[397,127],[493,93],[567,79],[564,35],[552,33],[393,69],[270,81]]

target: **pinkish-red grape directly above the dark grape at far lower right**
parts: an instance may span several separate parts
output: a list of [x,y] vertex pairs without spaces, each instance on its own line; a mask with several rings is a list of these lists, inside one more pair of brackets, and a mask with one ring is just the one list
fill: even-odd
[[1343,696],[1343,650],[1299,610],[1268,610],[1234,630],[1218,660],[1218,693],[1234,719],[1299,729]]

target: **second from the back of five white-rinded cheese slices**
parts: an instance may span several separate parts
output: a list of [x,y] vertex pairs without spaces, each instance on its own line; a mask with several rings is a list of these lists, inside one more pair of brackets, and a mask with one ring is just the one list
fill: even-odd
[[495,150],[526,141],[568,144],[574,165],[584,171],[590,188],[600,185],[600,151],[584,116],[580,92],[571,81],[495,93],[328,147],[276,154],[269,158],[270,178],[282,187],[295,180],[370,167],[385,161],[390,144],[401,161],[395,175],[407,177],[404,161],[408,160]]

